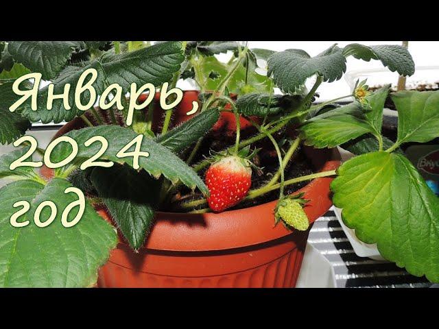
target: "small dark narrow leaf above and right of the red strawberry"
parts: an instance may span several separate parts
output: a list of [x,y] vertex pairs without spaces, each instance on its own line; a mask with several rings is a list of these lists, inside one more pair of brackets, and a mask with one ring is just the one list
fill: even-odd
[[256,115],[265,117],[282,114],[287,110],[298,107],[301,101],[300,96],[289,95],[267,95],[251,93],[238,97],[236,107],[239,113],[247,117]]

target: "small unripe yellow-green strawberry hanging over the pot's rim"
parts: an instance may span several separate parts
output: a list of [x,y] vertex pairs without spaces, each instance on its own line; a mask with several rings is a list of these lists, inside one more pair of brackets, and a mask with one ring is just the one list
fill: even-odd
[[303,203],[302,199],[294,199],[294,197],[279,200],[275,212],[276,222],[282,219],[287,226],[306,231],[309,228],[309,221],[302,208]]

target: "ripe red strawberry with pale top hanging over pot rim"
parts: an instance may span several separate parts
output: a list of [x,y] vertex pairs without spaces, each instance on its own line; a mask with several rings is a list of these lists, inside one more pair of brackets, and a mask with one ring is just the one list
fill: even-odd
[[226,156],[206,171],[209,207],[215,212],[235,206],[247,195],[252,184],[250,161],[239,156]]

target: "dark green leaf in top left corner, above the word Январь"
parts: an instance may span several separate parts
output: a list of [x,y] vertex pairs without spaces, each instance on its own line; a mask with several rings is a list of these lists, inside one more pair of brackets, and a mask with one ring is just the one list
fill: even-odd
[[8,51],[16,62],[41,73],[44,80],[52,80],[82,46],[82,41],[11,41]]

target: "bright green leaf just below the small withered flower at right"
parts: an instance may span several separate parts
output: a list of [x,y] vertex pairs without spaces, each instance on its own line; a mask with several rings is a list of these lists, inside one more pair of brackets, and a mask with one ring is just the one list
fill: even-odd
[[389,86],[385,86],[366,97],[366,108],[355,101],[309,119],[300,127],[302,138],[307,145],[322,148],[335,147],[367,133],[381,136],[383,108],[388,90]]

